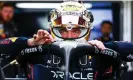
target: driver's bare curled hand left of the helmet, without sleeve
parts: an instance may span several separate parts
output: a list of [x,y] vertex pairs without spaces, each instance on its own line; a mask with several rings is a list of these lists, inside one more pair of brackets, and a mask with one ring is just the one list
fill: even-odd
[[41,44],[49,44],[53,42],[54,39],[46,30],[38,30],[37,34],[33,35],[33,38],[28,40],[29,46],[41,45]]

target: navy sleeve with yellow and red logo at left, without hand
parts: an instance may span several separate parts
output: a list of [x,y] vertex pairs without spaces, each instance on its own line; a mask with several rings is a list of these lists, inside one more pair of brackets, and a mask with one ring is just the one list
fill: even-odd
[[11,54],[28,47],[28,38],[12,37],[0,40],[0,53]]

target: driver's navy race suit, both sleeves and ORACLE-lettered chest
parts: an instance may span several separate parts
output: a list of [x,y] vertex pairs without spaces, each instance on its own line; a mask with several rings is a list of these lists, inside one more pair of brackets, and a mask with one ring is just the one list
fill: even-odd
[[[120,53],[125,61],[133,60],[133,44],[129,42],[108,42],[104,43]],[[22,49],[27,48],[27,38],[8,38],[0,41],[1,54],[18,55]],[[46,54],[46,53],[44,53]],[[82,65],[75,59],[71,63],[71,80],[107,80],[112,78],[114,71],[119,68],[119,63],[114,62],[110,57],[88,56],[88,63]],[[56,58],[56,59],[55,59]],[[63,62],[61,58],[51,56],[50,53],[42,55],[37,53],[25,54],[24,62],[28,63],[28,78],[31,80],[63,80]]]

